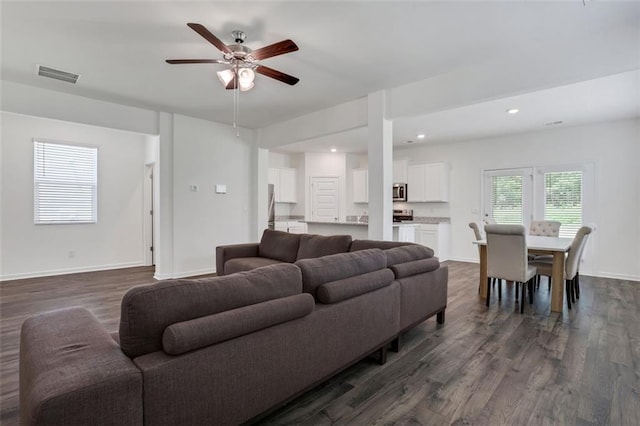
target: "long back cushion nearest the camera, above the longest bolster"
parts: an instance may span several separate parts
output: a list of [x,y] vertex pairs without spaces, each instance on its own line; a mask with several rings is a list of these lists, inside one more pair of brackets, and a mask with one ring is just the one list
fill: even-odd
[[168,326],[299,294],[300,269],[265,266],[222,277],[178,279],[134,287],[122,298],[120,346],[130,358],[162,350]]

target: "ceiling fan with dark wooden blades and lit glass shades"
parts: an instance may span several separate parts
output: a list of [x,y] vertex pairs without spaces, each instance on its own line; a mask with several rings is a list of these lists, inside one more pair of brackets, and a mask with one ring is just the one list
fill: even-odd
[[295,52],[298,46],[292,40],[283,40],[260,49],[252,50],[242,43],[246,34],[236,30],[231,34],[236,44],[226,45],[201,24],[189,23],[189,28],[200,34],[223,54],[223,59],[167,59],[169,64],[224,64],[229,68],[218,71],[218,78],[226,89],[250,90],[253,87],[255,73],[265,75],[293,86],[298,78],[273,68],[265,67],[259,61],[285,53]]

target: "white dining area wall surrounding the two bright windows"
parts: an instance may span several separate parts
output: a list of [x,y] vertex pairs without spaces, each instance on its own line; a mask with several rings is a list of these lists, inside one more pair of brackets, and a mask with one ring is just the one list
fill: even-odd
[[468,223],[480,219],[482,170],[593,163],[597,229],[581,271],[640,280],[639,119],[402,149],[394,158],[451,165],[450,202],[412,206],[414,215],[451,217],[451,258],[463,261],[478,257]]

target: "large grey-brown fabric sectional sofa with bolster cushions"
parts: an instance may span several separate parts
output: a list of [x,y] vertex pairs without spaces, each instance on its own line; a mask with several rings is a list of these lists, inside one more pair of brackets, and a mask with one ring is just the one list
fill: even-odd
[[284,234],[219,247],[221,276],[130,289],[118,333],[83,308],[26,320],[21,423],[239,424],[444,321],[430,249]]

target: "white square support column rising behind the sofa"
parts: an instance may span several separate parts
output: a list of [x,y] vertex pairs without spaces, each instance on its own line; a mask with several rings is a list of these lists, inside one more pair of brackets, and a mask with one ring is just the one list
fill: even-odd
[[384,91],[368,97],[369,239],[393,239],[393,123],[385,118]]

